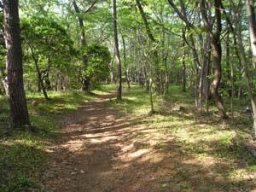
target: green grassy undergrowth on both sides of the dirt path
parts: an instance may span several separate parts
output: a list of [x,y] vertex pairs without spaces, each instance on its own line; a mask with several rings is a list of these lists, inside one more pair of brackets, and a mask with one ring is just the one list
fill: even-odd
[[[14,131],[1,137],[0,191],[42,191],[44,170],[49,166],[45,145],[61,139],[60,119],[75,112],[82,102],[113,90],[116,87],[111,84],[101,86],[90,96],[50,92],[49,102],[39,94],[29,94],[28,108],[36,131]],[[38,104],[32,106],[33,101]],[[168,172],[166,175],[160,163],[152,164],[152,172],[160,172],[161,191],[171,188],[174,191],[253,191],[256,159],[243,144],[252,126],[252,119],[242,113],[247,101],[235,100],[233,125],[230,120],[222,121],[214,116],[216,108],[212,105],[209,113],[200,113],[194,103],[189,92],[183,93],[172,86],[166,96],[154,95],[154,108],[158,113],[151,114],[148,93],[132,85],[130,90],[125,88],[121,101],[109,97],[107,105],[126,116],[133,125],[145,127],[135,137],[138,149],[147,148],[162,157],[162,162],[170,161],[168,165],[172,167],[164,170]],[[9,131],[8,117],[8,102],[2,96],[0,135]],[[234,137],[241,138],[241,142],[234,142]]]

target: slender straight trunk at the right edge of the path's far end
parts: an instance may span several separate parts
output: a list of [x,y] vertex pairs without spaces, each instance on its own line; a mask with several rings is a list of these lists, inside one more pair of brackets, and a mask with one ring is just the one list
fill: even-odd
[[114,41],[114,53],[117,62],[117,71],[118,71],[118,90],[117,90],[117,99],[122,99],[122,67],[121,59],[119,53],[119,38],[117,31],[117,13],[116,13],[116,0],[113,0],[113,41]]

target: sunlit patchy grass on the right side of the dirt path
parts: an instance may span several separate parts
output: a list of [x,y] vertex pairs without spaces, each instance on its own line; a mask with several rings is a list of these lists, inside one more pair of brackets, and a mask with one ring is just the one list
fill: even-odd
[[[173,189],[253,191],[256,188],[252,183],[256,179],[253,177],[256,158],[242,143],[233,142],[236,136],[244,139],[249,136],[252,119],[242,113],[247,101],[235,100],[235,124],[231,125],[230,121],[223,122],[212,114],[217,110],[213,105],[210,113],[198,112],[191,93],[183,93],[177,86],[171,86],[165,97],[154,96],[154,105],[160,113],[153,115],[148,114],[149,97],[143,88],[133,86],[124,92],[122,101],[113,100],[108,105],[136,120],[138,126],[144,125],[147,131],[137,134],[137,143],[140,148],[150,148],[152,153],[163,156],[162,163],[152,164],[153,170],[173,165],[165,170],[166,174],[160,171],[164,180],[172,175]],[[166,185],[162,190],[168,191],[165,188]]]

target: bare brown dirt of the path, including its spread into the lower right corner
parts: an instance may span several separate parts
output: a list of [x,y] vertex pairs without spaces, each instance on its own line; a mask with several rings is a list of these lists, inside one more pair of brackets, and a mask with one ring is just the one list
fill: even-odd
[[[108,108],[108,97],[86,102],[77,113],[63,118],[64,142],[50,149],[52,166],[47,174],[51,178],[44,183],[46,191],[218,192],[229,191],[225,186],[234,182],[241,187],[232,191],[254,191],[252,178],[232,181],[221,171],[212,172],[228,165],[183,154],[183,143],[175,137],[162,138],[167,143],[164,150],[159,143],[154,145],[154,137],[161,140],[154,129]],[[148,133],[150,138],[143,137]]]

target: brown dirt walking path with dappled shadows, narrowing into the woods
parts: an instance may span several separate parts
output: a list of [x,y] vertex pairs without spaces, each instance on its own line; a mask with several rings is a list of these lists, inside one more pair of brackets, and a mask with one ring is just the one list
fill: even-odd
[[[65,142],[52,149],[48,191],[126,192],[142,191],[143,180],[145,187],[148,185],[147,173],[141,172],[148,166],[142,166],[148,159],[143,156],[147,150],[134,148],[140,128],[135,129],[134,122],[107,107],[110,97],[85,102],[63,119]],[[147,170],[150,172],[149,166]],[[139,177],[142,181],[137,183]]]

